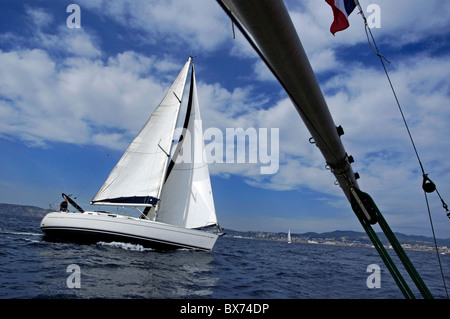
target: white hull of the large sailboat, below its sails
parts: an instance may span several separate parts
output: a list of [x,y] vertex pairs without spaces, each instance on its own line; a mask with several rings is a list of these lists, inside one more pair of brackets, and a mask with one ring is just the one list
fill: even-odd
[[68,241],[121,241],[159,250],[212,250],[218,238],[211,232],[99,212],[49,213],[42,219],[40,227],[50,237]]

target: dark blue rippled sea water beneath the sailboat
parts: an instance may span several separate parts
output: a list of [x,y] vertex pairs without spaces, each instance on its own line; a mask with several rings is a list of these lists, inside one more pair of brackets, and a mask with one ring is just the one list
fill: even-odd
[[[46,242],[40,217],[0,217],[0,298],[403,298],[371,248],[225,236],[212,252],[157,252],[124,243]],[[436,254],[407,254],[434,297],[446,298]],[[450,283],[450,255],[441,261]],[[367,287],[370,264],[381,267],[380,288]],[[67,272],[69,265],[80,269],[79,288],[69,287],[72,277],[68,286],[77,275]]]

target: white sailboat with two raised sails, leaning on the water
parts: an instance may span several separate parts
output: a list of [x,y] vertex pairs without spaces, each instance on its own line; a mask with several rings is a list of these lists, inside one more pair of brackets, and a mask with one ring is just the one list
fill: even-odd
[[[190,91],[183,133],[175,147],[175,128],[189,71]],[[194,64],[189,57],[90,202],[91,205],[135,207],[139,216],[85,211],[63,194],[77,212],[63,208],[48,213],[41,221],[41,230],[50,237],[70,241],[120,241],[162,250],[212,250],[219,235],[205,228],[215,226],[220,230],[220,226],[205,159]]]

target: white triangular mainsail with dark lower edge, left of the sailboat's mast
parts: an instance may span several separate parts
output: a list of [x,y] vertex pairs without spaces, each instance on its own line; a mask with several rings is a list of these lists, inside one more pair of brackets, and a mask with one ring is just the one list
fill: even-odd
[[161,192],[168,154],[180,110],[191,58],[166,96],[128,147],[91,201],[105,205],[155,205]]

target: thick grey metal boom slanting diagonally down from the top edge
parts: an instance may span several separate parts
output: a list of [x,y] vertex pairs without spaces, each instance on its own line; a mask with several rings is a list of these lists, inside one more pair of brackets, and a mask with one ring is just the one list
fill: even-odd
[[350,200],[355,174],[308,57],[282,0],[224,0],[256,42],[261,58],[286,90],[327,165]]

